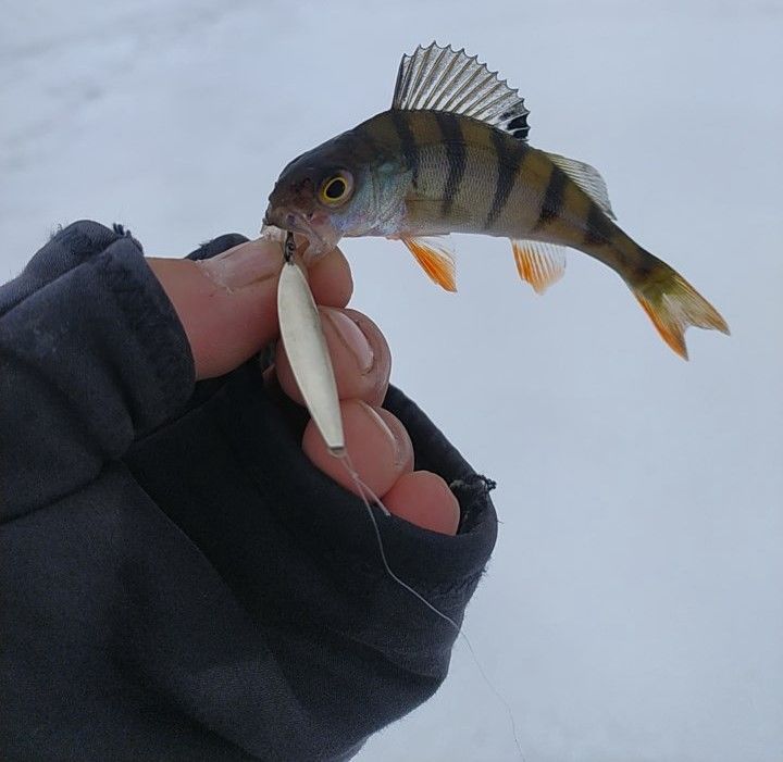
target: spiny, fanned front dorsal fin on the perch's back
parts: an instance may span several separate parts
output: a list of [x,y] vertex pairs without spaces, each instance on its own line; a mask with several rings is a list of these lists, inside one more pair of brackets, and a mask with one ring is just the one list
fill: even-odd
[[524,99],[498,78],[476,55],[464,49],[440,48],[433,42],[403,55],[391,108],[402,111],[449,111],[480,120],[527,139],[530,127]]

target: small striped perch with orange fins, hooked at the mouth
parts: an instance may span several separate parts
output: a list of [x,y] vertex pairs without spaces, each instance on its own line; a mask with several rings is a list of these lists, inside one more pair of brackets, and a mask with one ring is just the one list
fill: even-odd
[[687,360],[689,326],[729,334],[720,313],[616,222],[589,164],[534,148],[519,91],[464,49],[419,46],[391,108],[289,162],[264,224],[303,235],[308,257],[341,238],[401,240],[455,291],[451,233],[508,238],[519,276],[543,293],[575,249],[611,267],[661,338]]

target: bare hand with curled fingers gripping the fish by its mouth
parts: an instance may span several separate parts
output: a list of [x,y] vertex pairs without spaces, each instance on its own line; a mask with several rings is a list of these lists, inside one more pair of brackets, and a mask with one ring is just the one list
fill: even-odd
[[[199,379],[223,375],[278,336],[278,243],[248,241],[209,260],[149,258],[183,324]],[[337,382],[346,444],[362,482],[395,515],[453,535],[459,504],[437,474],[413,471],[413,447],[402,423],[381,408],[391,357],[377,326],[346,309],[352,292],[347,260],[337,249],[307,271]],[[283,390],[303,402],[282,345],[275,371]],[[346,489],[356,491],[312,421],[302,439],[308,458]]]

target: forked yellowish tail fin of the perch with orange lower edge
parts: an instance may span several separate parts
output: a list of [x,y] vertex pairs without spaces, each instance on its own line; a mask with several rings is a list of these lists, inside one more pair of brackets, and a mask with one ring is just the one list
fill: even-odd
[[650,253],[645,252],[644,259],[645,275],[626,283],[661,338],[683,360],[688,359],[685,330],[689,326],[729,334],[729,326],[718,310],[680,273]]

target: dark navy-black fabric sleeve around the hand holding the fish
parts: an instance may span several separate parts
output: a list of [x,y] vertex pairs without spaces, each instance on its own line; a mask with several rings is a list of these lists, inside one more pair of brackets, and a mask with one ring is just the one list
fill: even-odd
[[[345,759],[443,682],[453,629],[385,574],[301,411],[258,362],[194,383],[121,228],[65,228],[0,289],[0,362],[3,760]],[[488,482],[385,404],[462,511],[456,537],[376,512],[388,562],[459,622]]]

